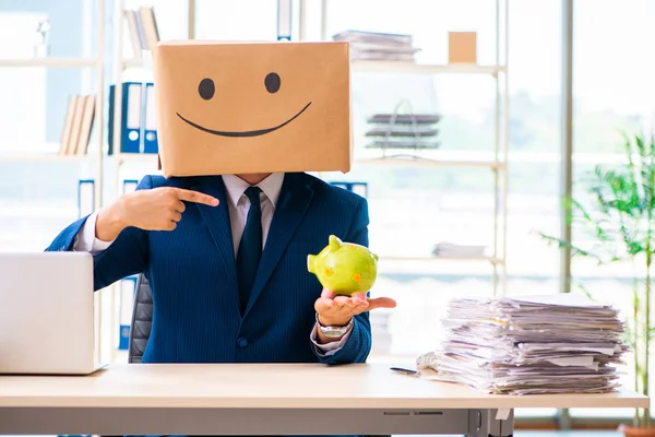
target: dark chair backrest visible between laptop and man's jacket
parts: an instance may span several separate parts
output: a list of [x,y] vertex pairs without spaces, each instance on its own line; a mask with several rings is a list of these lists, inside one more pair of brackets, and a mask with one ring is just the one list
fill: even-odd
[[141,363],[153,327],[153,293],[147,279],[140,274],[132,309],[128,363]]

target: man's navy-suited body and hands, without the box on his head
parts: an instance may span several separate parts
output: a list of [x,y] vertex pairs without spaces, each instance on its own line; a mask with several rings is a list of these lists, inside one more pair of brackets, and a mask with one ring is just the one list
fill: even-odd
[[307,271],[330,235],[368,246],[364,198],[305,173],[146,176],[68,226],[48,250],[91,251],[95,290],[144,273],[144,363],[362,363],[368,311]]

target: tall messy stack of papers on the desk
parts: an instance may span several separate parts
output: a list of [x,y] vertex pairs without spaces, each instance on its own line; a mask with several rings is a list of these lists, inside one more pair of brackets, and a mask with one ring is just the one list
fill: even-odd
[[443,326],[418,366],[492,394],[614,391],[628,351],[618,310],[577,294],[457,298]]

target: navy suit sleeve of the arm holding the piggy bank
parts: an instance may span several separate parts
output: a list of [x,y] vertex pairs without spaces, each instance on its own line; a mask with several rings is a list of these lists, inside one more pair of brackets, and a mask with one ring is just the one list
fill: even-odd
[[[357,206],[345,240],[368,247],[368,202],[362,198]],[[343,347],[331,355],[321,354],[314,349],[314,353],[319,357],[320,363],[323,364],[365,363],[370,352],[371,323],[368,311],[355,316],[353,329]]]

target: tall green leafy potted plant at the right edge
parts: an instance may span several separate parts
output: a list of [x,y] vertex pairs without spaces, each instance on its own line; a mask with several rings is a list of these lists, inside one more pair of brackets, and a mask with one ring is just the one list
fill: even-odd
[[[626,320],[627,342],[634,355],[634,389],[648,395],[650,354],[655,338],[652,316],[652,281],[655,257],[655,139],[624,137],[623,158],[597,165],[584,180],[585,196],[567,199],[575,233],[591,236],[580,247],[540,234],[571,257],[592,259],[600,265],[614,263],[632,268],[632,308]],[[575,239],[575,238],[573,238]],[[650,409],[635,411],[632,426],[621,427],[626,436],[655,436]]]

